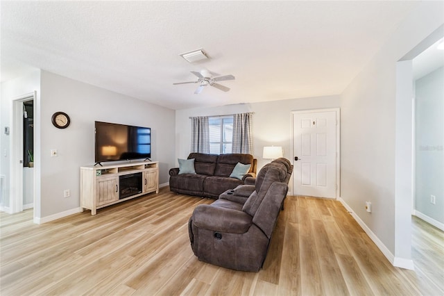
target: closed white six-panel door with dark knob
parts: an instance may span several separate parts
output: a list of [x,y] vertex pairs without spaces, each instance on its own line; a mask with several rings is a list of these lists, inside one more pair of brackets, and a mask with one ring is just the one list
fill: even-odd
[[336,198],[338,113],[293,113],[294,195]]

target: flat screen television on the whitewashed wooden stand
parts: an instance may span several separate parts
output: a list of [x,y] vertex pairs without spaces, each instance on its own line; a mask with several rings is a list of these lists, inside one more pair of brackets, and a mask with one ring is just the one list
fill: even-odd
[[151,158],[151,128],[94,122],[97,163]]

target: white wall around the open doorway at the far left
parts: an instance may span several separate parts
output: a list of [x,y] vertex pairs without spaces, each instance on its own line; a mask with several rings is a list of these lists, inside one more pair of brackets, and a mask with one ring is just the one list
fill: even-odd
[[[5,127],[12,127],[12,99],[22,96],[24,94],[30,94],[37,91],[37,98],[35,101],[35,108],[37,108],[40,101],[40,69],[35,69],[24,76],[12,79],[1,83],[1,104],[0,104],[0,174],[5,176],[5,182],[3,186],[2,201],[0,206],[9,208],[9,197],[12,194],[10,191],[10,150],[14,147],[10,147],[11,135],[4,133]],[[37,151],[35,151],[36,154]],[[35,211],[40,211],[39,208],[35,208]]]

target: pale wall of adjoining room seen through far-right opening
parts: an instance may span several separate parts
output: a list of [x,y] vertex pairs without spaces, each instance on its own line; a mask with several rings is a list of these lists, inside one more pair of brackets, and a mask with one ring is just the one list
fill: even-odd
[[444,230],[444,38],[413,58],[413,213]]

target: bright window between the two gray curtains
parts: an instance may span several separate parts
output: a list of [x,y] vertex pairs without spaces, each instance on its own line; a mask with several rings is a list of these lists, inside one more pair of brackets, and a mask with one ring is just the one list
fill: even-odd
[[209,117],[210,125],[210,153],[231,153],[233,139],[233,117]]

